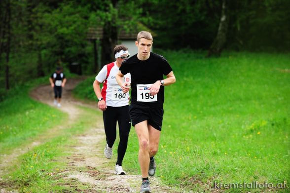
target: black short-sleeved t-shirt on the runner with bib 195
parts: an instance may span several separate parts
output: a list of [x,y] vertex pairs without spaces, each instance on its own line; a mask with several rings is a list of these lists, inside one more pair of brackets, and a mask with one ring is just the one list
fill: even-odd
[[156,102],[137,102],[137,84],[153,84],[168,75],[172,68],[167,60],[150,52],[147,60],[139,60],[137,54],[124,61],[119,69],[123,75],[131,74],[131,103],[143,103],[152,107],[162,107],[164,102],[164,86],[160,86]]

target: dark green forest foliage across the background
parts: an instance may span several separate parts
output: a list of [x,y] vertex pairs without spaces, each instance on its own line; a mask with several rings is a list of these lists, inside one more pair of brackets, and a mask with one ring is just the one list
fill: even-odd
[[[7,3],[10,2],[10,57],[6,63]],[[207,50],[217,36],[221,0],[1,0],[0,85],[5,67],[10,86],[49,75],[56,66],[81,64],[83,74],[95,74],[89,28],[132,31],[136,25],[153,32],[154,47]],[[289,0],[227,0],[225,48],[283,51],[290,49]],[[112,33],[115,35],[115,33]],[[137,34],[136,34],[137,35]],[[111,37],[112,38],[112,37]],[[114,39],[110,43],[114,42]],[[108,38],[107,40],[110,40]],[[99,45],[102,41],[98,41]],[[107,49],[99,49],[104,51]],[[109,50],[109,49],[108,49]],[[102,54],[99,54],[100,56]],[[100,61],[100,59],[98,59]]]

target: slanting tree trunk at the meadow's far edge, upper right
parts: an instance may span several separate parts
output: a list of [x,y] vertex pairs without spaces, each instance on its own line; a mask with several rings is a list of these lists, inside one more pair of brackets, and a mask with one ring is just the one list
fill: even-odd
[[221,50],[226,42],[228,19],[226,0],[222,0],[221,17],[218,25],[217,37],[211,45],[207,57],[212,55],[220,56]]

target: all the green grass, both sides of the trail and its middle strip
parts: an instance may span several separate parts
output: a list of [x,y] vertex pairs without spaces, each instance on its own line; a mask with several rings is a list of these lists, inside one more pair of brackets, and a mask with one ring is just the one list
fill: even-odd
[[[156,176],[167,186],[192,192],[212,192],[214,183],[284,183],[290,180],[290,55],[225,52],[204,58],[204,52],[160,51],[174,69],[177,82],[165,88],[164,121]],[[74,94],[96,100],[94,76]],[[38,103],[28,91],[47,78],[9,92],[0,102],[0,151],[10,154],[30,144],[67,115]],[[97,113],[85,112],[73,126],[22,154],[4,179],[19,192],[87,190],[66,181],[72,136],[95,125]],[[115,143],[114,154],[117,152]],[[105,146],[105,141],[104,144]],[[132,127],[123,168],[140,174],[138,141]],[[112,160],[111,163],[113,163]],[[72,186],[67,186],[66,184]],[[1,186],[1,184],[0,184]],[[274,189],[289,192],[289,189]],[[264,189],[222,189],[221,192],[264,192]]]

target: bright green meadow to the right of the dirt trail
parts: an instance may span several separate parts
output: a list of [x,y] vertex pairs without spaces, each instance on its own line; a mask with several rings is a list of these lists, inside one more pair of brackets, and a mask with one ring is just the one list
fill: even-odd
[[[165,88],[157,176],[194,192],[215,182],[289,184],[289,54],[156,53],[167,58],[177,79]],[[80,84],[75,95],[96,100],[93,80]],[[123,163],[129,173],[140,173],[137,154],[132,129]]]

